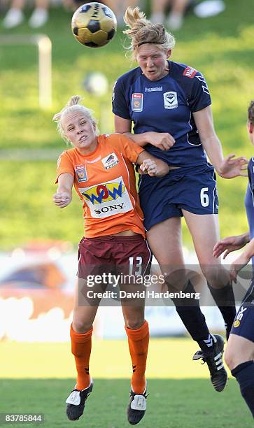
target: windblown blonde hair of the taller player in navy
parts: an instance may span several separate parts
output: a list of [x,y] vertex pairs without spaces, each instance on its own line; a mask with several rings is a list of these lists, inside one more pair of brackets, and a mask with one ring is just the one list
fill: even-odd
[[164,52],[174,48],[176,40],[173,34],[166,31],[162,24],[153,24],[147,20],[145,13],[141,12],[138,7],[127,7],[124,20],[129,29],[123,32],[132,41],[129,50],[132,50],[134,59],[136,59],[139,46],[145,43],[153,43]]

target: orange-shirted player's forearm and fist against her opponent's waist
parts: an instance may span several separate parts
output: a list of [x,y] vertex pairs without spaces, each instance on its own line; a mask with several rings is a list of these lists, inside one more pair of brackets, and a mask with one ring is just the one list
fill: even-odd
[[169,172],[169,165],[166,162],[150,155],[146,150],[140,153],[136,163],[139,165],[139,173],[151,177],[163,177]]

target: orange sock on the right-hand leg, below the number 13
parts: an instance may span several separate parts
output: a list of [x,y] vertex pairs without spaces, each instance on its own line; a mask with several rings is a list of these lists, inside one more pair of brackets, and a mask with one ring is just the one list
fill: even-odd
[[145,321],[139,329],[133,330],[125,326],[128,336],[129,353],[132,358],[132,390],[143,394],[146,390],[146,358],[149,344],[149,327]]

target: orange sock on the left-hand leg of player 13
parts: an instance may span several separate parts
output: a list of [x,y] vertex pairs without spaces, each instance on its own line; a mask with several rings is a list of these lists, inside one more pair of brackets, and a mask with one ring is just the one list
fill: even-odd
[[71,324],[71,352],[75,357],[78,372],[77,390],[84,390],[90,385],[89,360],[92,348],[92,329],[86,333],[76,333]]

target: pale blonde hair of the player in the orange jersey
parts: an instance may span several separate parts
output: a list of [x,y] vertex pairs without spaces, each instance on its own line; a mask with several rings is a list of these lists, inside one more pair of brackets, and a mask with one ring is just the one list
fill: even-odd
[[80,104],[82,100],[83,100],[83,97],[80,97],[79,95],[73,95],[69,99],[66,106],[64,106],[64,108],[62,108],[62,110],[59,111],[59,113],[56,113],[52,119],[52,120],[54,120],[54,122],[57,122],[57,131],[59,132],[60,136],[62,136],[64,141],[66,141],[66,143],[70,143],[70,141],[66,137],[66,135],[64,134],[64,129],[62,127],[62,119],[64,116],[68,115],[69,113],[75,113],[75,112],[83,113],[85,115],[85,117],[87,117],[87,119],[89,119],[95,125],[95,134],[97,136],[99,135],[99,129],[97,127],[97,120],[93,116],[94,112],[92,110],[90,110],[90,108],[87,108],[87,107],[83,106],[83,104]]

